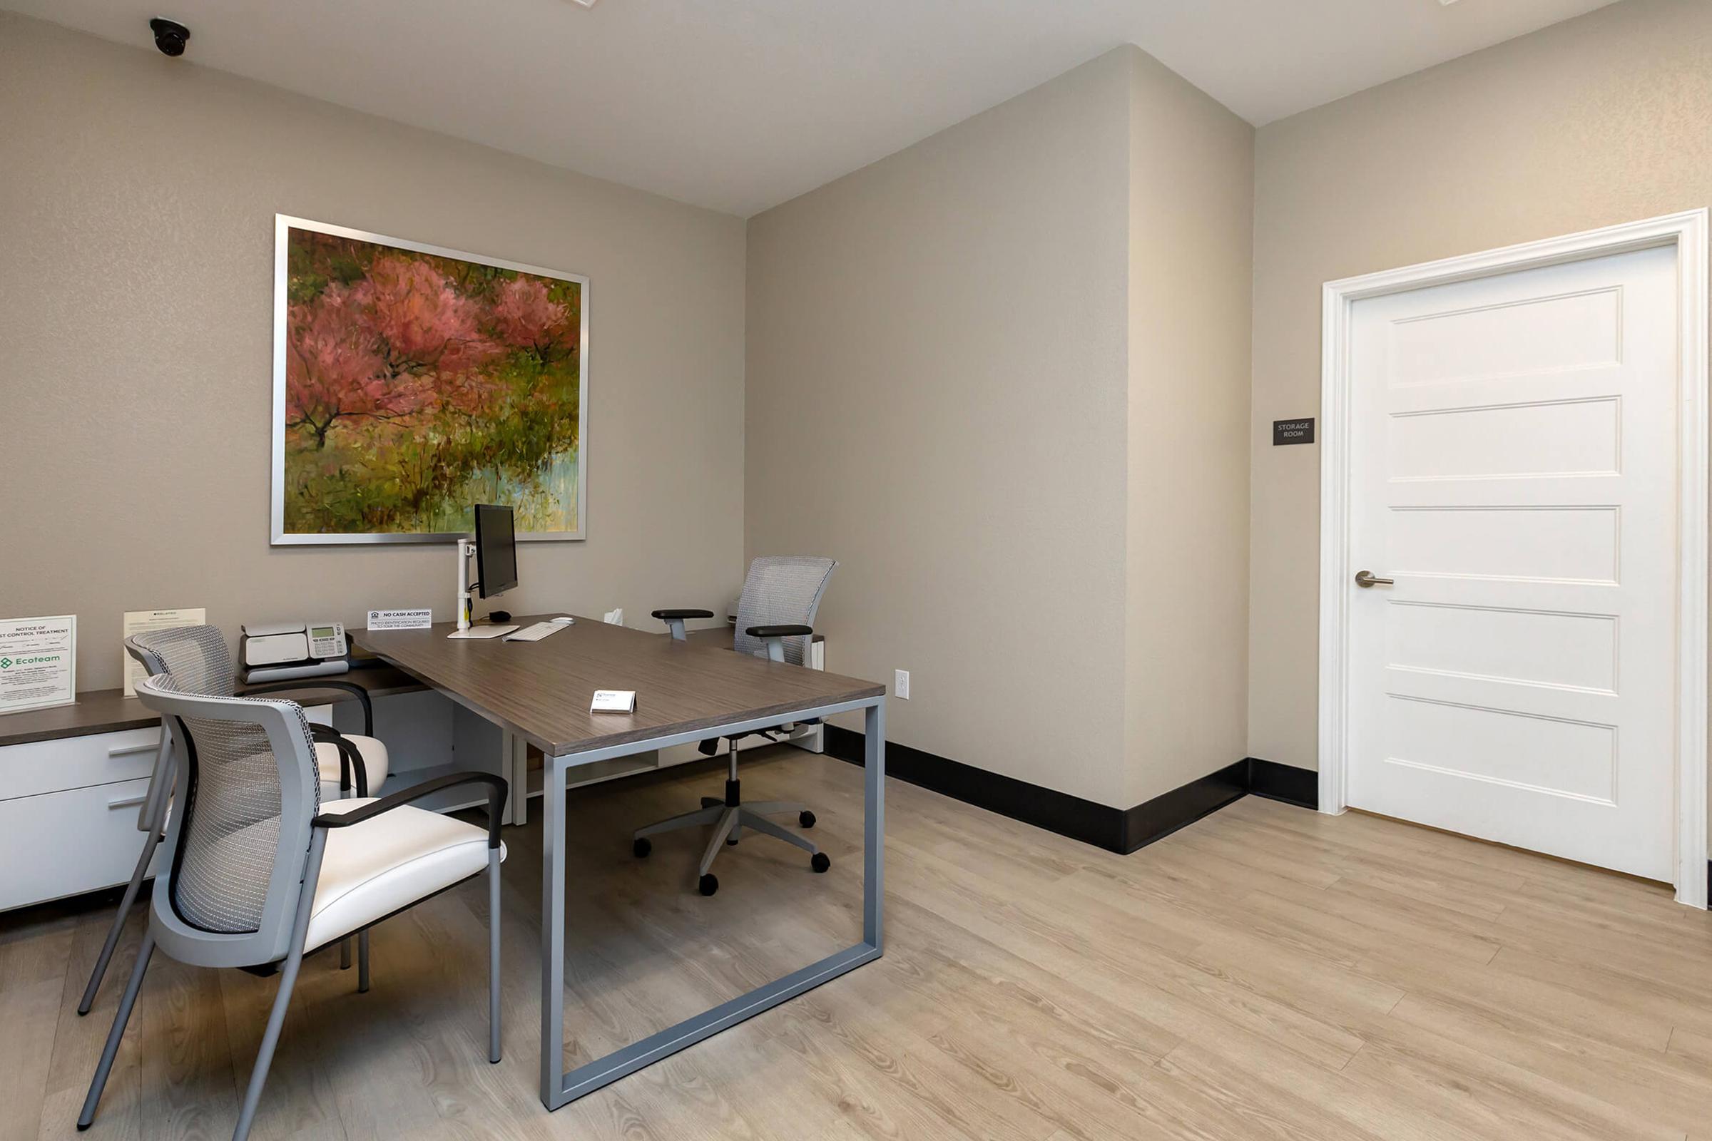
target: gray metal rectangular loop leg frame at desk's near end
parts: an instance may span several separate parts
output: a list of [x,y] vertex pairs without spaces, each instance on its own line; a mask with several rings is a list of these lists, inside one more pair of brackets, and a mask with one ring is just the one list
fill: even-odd
[[[565,785],[567,773],[580,765],[609,761],[615,756],[664,749],[675,744],[705,741],[753,729],[770,729],[810,717],[830,717],[865,710],[863,722],[863,908],[861,943],[818,963],[810,963],[782,978],[702,1011],[676,1026],[652,1033],[640,1042],[613,1050],[565,1073]],[[652,1066],[663,1057],[695,1045],[702,1038],[736,1026],[779,1002],[794,999],[823,982],[880,958],[883,948],[882,917],[885,905],[885,696],[837,705],[817,705],[788,715],[731,722],[716,729],[681,732],[647,741],[615,744],[587,753],[546,758],[543,773],[541,821],[541,1103],[550,1110],[594,1093],[604,1085]]]

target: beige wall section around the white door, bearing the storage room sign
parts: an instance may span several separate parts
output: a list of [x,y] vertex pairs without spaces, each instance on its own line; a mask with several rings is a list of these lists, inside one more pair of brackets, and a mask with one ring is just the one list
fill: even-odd
[[1628,0],[1282,120],[1255,156],[1248,749],[1317,766],[1320,284],[1712,205],[1712,3]]

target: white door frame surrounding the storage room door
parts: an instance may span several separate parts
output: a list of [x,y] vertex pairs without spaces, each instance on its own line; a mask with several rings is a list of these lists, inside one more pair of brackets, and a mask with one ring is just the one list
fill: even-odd
[[1707,907],[1707,210],[1344,277],[1323,286],[1320,363],[1320,811],[1347,807],[1349,328],[1356,301],[1673,246],[1678,269],[1676,900]]

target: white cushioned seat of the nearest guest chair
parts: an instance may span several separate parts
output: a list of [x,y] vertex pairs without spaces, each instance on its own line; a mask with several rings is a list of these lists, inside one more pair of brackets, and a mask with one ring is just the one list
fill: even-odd
[[[372,801],[329,801],[322,813],[349,813]],[[440,813],[404,806],[361,825],[329,828],[303,946],[327,946],[486,867],[488,830]]]

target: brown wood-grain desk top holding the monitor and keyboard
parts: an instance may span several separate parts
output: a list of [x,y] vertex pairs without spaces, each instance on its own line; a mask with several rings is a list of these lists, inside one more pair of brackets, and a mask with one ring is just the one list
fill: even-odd
[[[519,626],[553,618],[514,618]],[[577,616],[541,641],[450,640],[431,630],[358,630],[377,657],[510,729],[550,756],[697,732],[734,720],[885,695],[885,686],[731,653]],[[596,689],[635,689],[635,713],[591,713]]]

